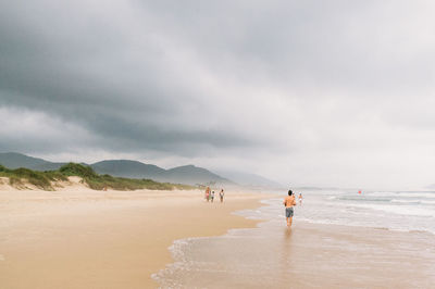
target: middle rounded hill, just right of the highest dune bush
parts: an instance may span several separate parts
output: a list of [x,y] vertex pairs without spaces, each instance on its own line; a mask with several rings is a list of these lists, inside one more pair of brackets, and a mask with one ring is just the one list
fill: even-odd
[[157,179],[166,172],[153,164],[144,164],[137,161],[110,160],[90,165],[98,174],[109,174],[117,177]]

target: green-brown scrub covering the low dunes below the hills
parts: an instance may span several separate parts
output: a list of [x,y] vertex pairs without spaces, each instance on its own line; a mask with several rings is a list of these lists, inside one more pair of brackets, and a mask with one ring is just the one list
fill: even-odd
[[102,190],[104,188],[112,188],[115,190],[173,190],[175,189],[194,189],[191,186],[158,183],[152,179],[135,179],[124,177],[113,177],[111,175],[99,175],[90,166],[69,163],[60,167],[58,171],[35,172],[28,168],[9,169],[0,165],[0,176],[8,177],[11,186],[23,188],[23,181],[44,189],[53,190],[52,181],[67,180],[69,176],[78,176],[83,178],[89,188],[95,190]]

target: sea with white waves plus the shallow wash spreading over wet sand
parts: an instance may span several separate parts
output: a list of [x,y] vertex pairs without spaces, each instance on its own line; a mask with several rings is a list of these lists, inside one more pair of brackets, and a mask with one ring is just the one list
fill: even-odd
[[[257,228],[176,240],[162,288],[435,288],[435,192],[303,190],[236,212]],[[212,224],[211,224],[212,225]]]

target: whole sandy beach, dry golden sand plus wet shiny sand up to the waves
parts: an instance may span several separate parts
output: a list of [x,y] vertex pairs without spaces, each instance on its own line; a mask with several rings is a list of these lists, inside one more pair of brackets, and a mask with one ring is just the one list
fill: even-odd
[[[95,191],[77,179],[59,191],[3,185],[0,288],[287,288],[290,284],[431,288],[435,284],[431,234],[298,218],[287,229],[281,199],[271,199],[275,196],[227,191],[225,197],[221,204],[206,202],[199,190]],[[274,205],[260,204],[264,199]],[[233,214],[247,209],[256,209],[247,214],[263,215],[264,222]],[[228,231],[233,228],[247,229]],[[174,241],[181,260],[169,250]]]

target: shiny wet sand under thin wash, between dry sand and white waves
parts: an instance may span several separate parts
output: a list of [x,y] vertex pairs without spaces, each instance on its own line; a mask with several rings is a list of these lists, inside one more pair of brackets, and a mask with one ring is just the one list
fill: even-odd
[[175,262],[158,275],[163,288],[286,288],[289,284],[296,288],[430,288],[435,284],[435,239],[426,231],[297,219],[287,229],[283,216],[260,221],[256,228],[187,238],[177,244]]

